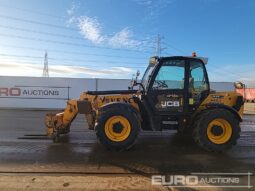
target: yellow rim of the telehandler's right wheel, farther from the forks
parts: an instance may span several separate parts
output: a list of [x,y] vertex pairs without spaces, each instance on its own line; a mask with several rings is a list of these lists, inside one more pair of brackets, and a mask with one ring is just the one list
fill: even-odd
[[232,128],[225,119],[214,119],[207,127],[207,137],[215,144],[224,144],[232,136]]

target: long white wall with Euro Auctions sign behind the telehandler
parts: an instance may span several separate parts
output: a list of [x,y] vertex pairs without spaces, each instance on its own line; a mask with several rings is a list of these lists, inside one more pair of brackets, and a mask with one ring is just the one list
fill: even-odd
[[[0,108],[62,109],[66,100],[88,90],[123,90],[128,79],[0,77]],[[234,91],[229,82],[213,82],[217,91]]]

